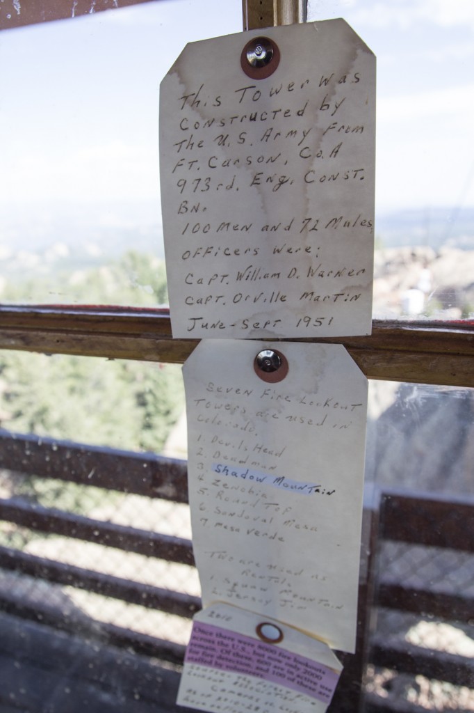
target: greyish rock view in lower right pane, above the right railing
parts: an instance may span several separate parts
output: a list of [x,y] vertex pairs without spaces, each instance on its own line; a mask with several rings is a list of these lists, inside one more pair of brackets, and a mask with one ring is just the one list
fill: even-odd
[[366,481],[472,496],[474,389],[369,383]]

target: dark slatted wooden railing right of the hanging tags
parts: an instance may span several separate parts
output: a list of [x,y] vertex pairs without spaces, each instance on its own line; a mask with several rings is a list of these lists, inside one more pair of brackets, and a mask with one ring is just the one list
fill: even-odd
[[[451,552],[453,559],[462,553],[473,555],[468,563],[471,582],[474,583],[474,540],[467,533],[474,532],[474,500],[460,498],[444,499],[426,493],[401,495],[395,491],[383,493],[379,506],[377,540],[381,543],[404,543],[411,547],[422,546],[433,560],[443,550]],[[464,565],[465,566],[465,565]],[[377,567],[379,571],[377,572]],[[455,593],[446,591],[443,581],[410,585],[401,577],[395,583],[384,581],[383,563],[373,563],[376,587],[374,587],[374,610],[404,612],[418,615],[426,622],[451,622],[460,627],[473,624],[474,588],[464,593],[458,582]],[[474,688],[474,662],[472,657],[433,650],[426,645],[414,645],[400,637],[390,640],[386,632],[374,632],[370,637],[368,660],[373,665],[396,672],[423,676],[453,684]],[[379,713],[394,710],[393,699],[367,697],[364,711]],[[409,709],[409,708],[407,708]],[[419,708],[421,710],[421,707]],[[401,707],[401,710],[404,710]]]

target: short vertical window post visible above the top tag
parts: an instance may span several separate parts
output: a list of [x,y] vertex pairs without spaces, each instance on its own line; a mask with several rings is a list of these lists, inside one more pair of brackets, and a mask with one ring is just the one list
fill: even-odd
[[242,0],[244,30],[306,22],[307,0]]

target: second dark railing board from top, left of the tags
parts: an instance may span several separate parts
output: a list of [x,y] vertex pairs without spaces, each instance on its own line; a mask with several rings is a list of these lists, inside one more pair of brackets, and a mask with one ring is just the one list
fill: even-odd
[[73,513],[63,513],[52,508],[31,505],[18,499],[2,500],[0,498],[0,520],[7,520],[10,523],[43,533],[64,535],[107,545],[107,547],[125,552],[194,565],[190,540],[93,520]]

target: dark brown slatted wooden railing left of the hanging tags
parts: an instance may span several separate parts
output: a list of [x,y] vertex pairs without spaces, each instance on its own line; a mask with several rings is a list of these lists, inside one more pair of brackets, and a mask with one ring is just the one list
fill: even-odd
[[[65,483],[104,488],[173,503],[187,502],[186,464],[169,458],[112,451],[109,448],[79,446],[51,438],[38,439],[0,431],[0,468],[14,473],[53,478]],[[194,565],[189,540],[159,532],[132,528],[95,520],[75,513],[44,508],[23,498],[0,499],[0,520],[36,533],[63,535],[67,538],[118,548],[125,553],[137,553],[167,560],[171,563]],[[0,568],[51,584],[68,585],[91,593],[113,597],[190,619],[200,608],[199,597],[131,582],[130,580],[88,570],[71,564],[48,560],[37,555],[0,546]],[[48,621],[60,630],[71,633],[79,625],[87,635],[97,631],[90,622],[70,625],[61,613],[44,602],[28,604],[14,591],[0,593],[0,610],[6,610],[32,620]],[[184,647],[172,642],[154,640],[117,626],[100,624],[101,636],[120,642],[121,646],[174,663],[181,663]]]

